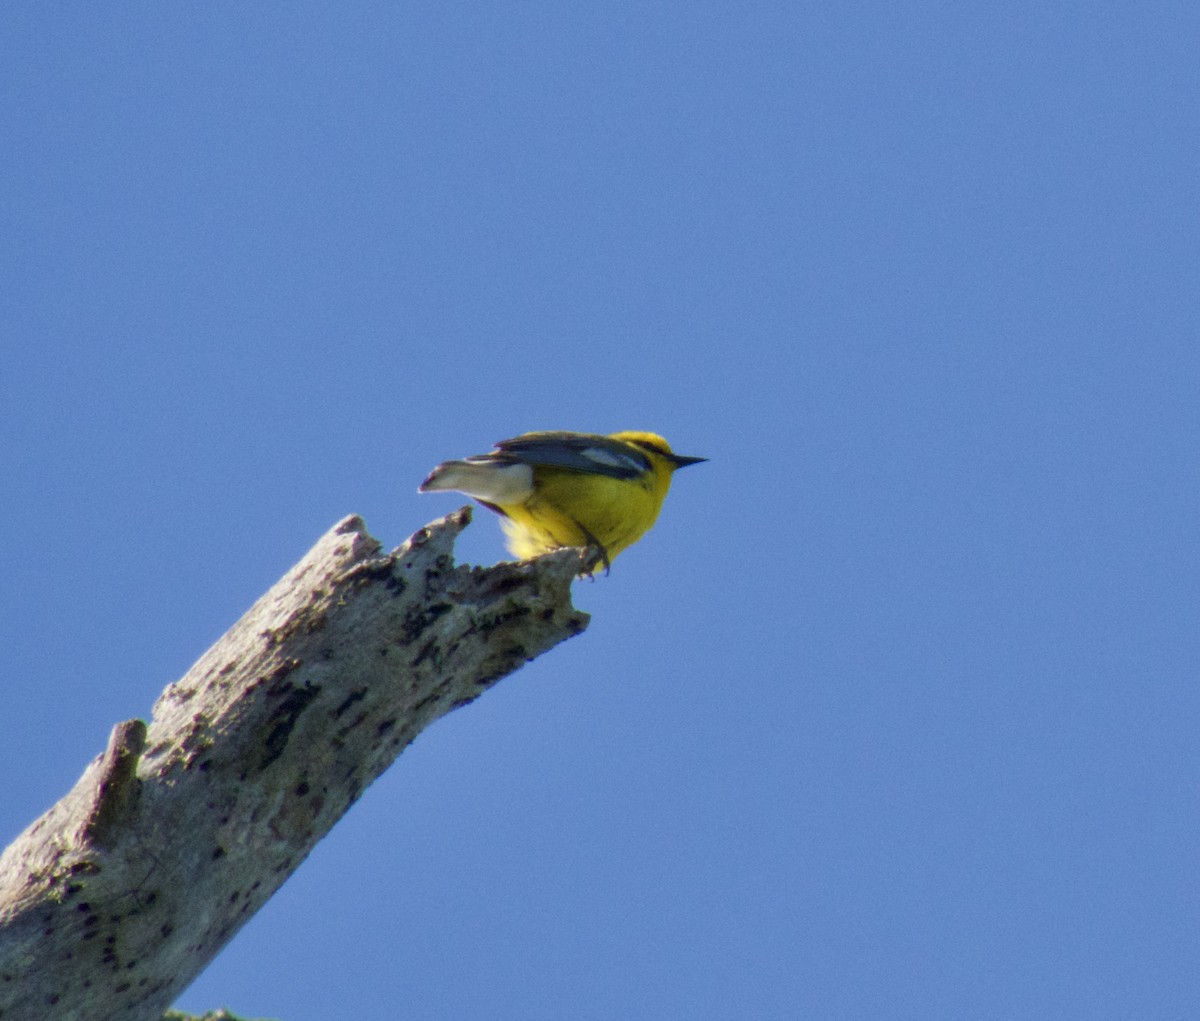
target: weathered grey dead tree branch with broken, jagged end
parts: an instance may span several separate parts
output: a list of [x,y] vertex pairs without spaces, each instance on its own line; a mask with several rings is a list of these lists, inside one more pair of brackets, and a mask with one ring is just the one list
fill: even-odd
[[469,509],[336,525],[0,857],[0,1021],[151,1021],[414,737],[587,626],[577,551],[455,566]]

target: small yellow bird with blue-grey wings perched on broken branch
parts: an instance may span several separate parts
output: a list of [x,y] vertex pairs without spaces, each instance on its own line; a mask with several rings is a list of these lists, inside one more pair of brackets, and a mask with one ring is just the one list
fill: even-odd
[[418,492],[452,490],[496,511],[520,559],[578,547],[589,577],[649,530],[679,468],[708,460],[650,432],[528,432],[494,448],[439,464]]

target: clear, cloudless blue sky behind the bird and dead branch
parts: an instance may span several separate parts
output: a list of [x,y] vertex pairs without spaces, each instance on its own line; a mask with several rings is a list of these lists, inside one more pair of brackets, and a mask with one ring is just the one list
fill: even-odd
[[182,1007],[1195,1014],[1194,5],[5,20],[0,843],[438,461],[712,458]]

